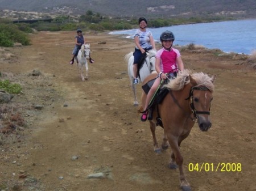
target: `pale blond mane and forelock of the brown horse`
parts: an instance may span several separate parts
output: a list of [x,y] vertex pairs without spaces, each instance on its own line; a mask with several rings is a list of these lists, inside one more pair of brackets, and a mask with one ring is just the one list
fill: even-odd
[[177,78],[170,80],[170,82],[164,87],[167,87],[171,90],[177,91],[181,90],[186,84],[190,82],[189,75],[196,81],[197,86],[205,86],[211,92],[214,92],[214,77],[209,77],[204,73],[192,73],[191,70],[185,69],[184,71],[177,74]]

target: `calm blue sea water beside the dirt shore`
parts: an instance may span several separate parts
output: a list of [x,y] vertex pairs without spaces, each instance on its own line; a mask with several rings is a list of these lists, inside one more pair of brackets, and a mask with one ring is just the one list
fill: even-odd
[[[256,50],[256,19],[226,22],[184,24],[179,26],[148,28],[154,39],[159,41],[163,31],[172,31],[175,45],[196,44],[206,48],[221,49],[223,52],[251,54]],[[136,29],[110,32],[112,35],[127,35],[133,38]]]

